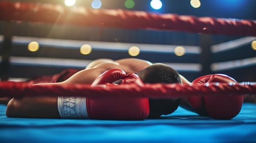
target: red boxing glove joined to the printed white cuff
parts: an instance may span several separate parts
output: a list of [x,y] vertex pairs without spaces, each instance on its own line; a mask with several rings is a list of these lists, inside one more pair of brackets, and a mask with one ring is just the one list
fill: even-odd
[[[116,84],[118,82],[120,84]],[[125,84],[144,85],[136,74],[126,75],[123,70],[112,69],[95,79],[92,87],[125,86]],[[145,97],[93,97],[86,98],[86,105],[90,119],[143,120],[149,114],[148,98]]]

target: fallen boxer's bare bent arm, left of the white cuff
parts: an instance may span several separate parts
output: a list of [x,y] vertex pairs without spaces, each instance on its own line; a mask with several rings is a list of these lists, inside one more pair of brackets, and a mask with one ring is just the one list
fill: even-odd
[[[51,84],[72,84],[83,83],[92,84],[92,82],[103,73],[104,68],[92,68],[82,70],[72,75],[66,81]],[[7,117],[21,118],[60,118],[57,107],[58,97],[39,97],[24,96],[22,98],[13,98],[7,104]]]

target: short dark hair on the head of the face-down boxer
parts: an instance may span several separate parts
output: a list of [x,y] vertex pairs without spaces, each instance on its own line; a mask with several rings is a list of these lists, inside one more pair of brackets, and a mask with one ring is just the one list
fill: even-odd
[[[139,71],[137,75],[144,83],[180,83],[182,84],[180,74],[165,64],[153,64]],[[161,115],[167,115],[174,112],[179,104],[180,98],[148,99],[149,115],[148,118],[155,118]]]

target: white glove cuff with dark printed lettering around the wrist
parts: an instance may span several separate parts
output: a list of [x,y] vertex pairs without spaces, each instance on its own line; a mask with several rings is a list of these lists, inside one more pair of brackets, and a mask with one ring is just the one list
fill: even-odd
[[58,112],[63,119],[89,119],[85,97],[58,97]]

